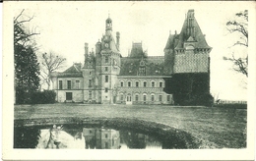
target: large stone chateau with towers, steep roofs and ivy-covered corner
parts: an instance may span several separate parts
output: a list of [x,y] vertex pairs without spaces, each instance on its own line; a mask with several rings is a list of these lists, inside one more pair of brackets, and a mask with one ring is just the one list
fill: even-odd
[[114,37],[112,20],[106,19],[105,33],[96,42],[96,50],[89,51],[85,43],[84,65],[75,63],[63,73],[52,75],[57,101],[173,104],[175,94],[182,95],[182,91],[172,88],[183,83],[173,79],[182,79],[187,74],[196,76],[198,83],[205,82],[204,87],[193,87],[193,90],[210,91],[209,53],[212,48],[197,24],[194,10],[188,11],[179,34],[176,31],[169,34],[164,56],[148,56],[142,43],[133,43],[129,55],[122,57],[119,42],[120,33],[116,32]]

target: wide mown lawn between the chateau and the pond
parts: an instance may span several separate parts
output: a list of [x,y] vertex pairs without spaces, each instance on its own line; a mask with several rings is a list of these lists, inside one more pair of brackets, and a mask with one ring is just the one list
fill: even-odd
[[183,130],[203,148],[245,148],[247,109],[154,105],[45,104],[15,105],[15,119],[92,117],[129,118]]

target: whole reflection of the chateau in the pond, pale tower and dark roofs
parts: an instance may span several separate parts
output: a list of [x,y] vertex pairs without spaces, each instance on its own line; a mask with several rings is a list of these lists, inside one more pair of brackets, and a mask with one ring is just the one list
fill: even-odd
[[160,148],[160,141],[145,134],[108,129],[83,129],[87,149]]

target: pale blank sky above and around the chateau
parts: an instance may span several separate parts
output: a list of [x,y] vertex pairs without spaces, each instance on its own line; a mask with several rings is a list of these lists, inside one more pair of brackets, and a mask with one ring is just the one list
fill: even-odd
[[[11,2],[10,2],[11,3]],[[245,3],[246,4],[246,3]],[[211,57],[211,92],[220,99],[246,100],[246,78],[233,72],[232,64],[223,60],[237,49],[228,48],[235,37],[227,33],[225,23],[234,14],[247,9],[244,3],[231,2],[21,2],[13,7],[14,17],[22,9],[34,15],[28,25],[40,34],[35,37],[37,54],[54,52],[67,59],[68,68],[84,63],[84,44],[95,49],[105,30],[105,20],[112,19],[113,35],[120,32],[120,51],[128,55],[132,42],[142,42],[149,56],[163,56],[169,33],[180,32],[189,9],[213,47]],[[226,7],[229,6],[229,7]],[[250,11],[249,11],[250,14]],[[240,49],[239,49],[240,50]],[[240,50],[244,51],[244,50]],[[65,70],[65,69],[63,69]]]

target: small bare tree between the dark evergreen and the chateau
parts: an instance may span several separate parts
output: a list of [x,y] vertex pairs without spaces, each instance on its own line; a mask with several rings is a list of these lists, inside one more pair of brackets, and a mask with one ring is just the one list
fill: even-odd
[[54,53],[50,52],[49,54],[44,53],[42,54],[42,62],[41,62],[41,75],[42,83],[47,84],[47,88],[50,88],[50,84],[52,82],[51,74],[56,70],[59,70],[63,67],[66,58],[61,56],[55,55]]

